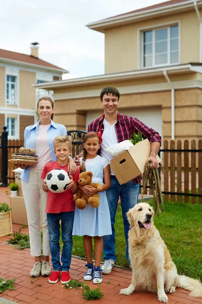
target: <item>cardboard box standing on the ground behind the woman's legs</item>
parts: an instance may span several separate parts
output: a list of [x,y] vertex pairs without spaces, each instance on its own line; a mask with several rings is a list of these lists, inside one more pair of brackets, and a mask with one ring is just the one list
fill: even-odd
[[[25,207],[24,198],[21,196],[13,197],[10,196],[11,207],[12,207],[12,222],[20,225],[28,225],[27,211]],[[42,226],[40,217],[40,227]]]

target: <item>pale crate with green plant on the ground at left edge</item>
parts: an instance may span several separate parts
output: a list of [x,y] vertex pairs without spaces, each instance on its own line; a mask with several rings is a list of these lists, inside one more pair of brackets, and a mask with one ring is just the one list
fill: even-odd
[[0,237],[12,233],[11,207],[5,202],[0,203]]

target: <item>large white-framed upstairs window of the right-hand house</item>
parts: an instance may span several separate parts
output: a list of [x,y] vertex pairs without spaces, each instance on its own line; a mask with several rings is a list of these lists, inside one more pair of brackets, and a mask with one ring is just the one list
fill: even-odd
[[179,62],[179,26],[143,32],[143,67]]

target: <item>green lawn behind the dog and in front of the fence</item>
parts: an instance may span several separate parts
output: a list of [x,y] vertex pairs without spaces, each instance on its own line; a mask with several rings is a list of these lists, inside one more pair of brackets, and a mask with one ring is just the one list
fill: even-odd
[[[153,201],[148,203],[153,205]],[[202,281],[202,205],[165,202],[164,213],[154,220],[170,250],[178,273]],[[128,267],[121,206],[118,206],[115,227],[116,264]],[[73,237],[72,254],[85,257],[82,237]]]

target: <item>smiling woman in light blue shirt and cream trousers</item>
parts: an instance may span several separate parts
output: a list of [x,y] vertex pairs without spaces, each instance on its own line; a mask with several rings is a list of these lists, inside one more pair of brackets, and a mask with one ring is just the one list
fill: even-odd
[[[44,277],[51,275],[49,265],[49,236],[46,218],[47,193],[42,189],[43,180],[41,174],[45,164],[57,160],[54,154],[53,140],[56,136],[67,135],[64,125],[56,124],[52,121],[54,113],[54,102],[49,97],[41,97],[37,102],[37,112],[40,120],[25,129],[25,147],[35,148],[35,155],[38,156],[38,164],[31,167],[21,165],[25,169],[21,174],[22,191],[27,210],[30,253],[35,257],[33,269],[30,277],[36,278],[40,274]],[[70,174],[76,170],[73,160],[69,161]],[[43,231],[43,258],[41,262],[41,235],[40,235],[40,214]]]

